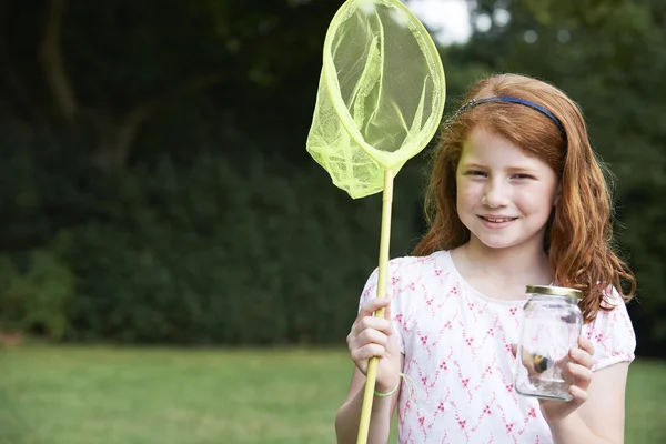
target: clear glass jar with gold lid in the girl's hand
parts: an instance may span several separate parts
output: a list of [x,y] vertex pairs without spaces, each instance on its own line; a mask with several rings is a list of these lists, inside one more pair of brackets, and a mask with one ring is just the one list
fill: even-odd
[[514,387],[543,400],[569,401],[571,381],[564,375],[571,349],[578,346],[583,313],[578,290],[528,285],[516,352]]

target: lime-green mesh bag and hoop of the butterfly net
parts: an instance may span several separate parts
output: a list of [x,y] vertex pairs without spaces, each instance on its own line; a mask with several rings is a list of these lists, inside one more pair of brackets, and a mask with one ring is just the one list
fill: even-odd
[[444,70],[416,17],[397,0],[350,0],[324,42],[307,151],[352,198],[383,189],[425,148],[444,109]]

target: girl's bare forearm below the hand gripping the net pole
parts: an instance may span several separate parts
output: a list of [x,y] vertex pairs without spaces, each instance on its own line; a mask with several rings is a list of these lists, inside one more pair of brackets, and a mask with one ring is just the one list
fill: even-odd
[[[335,434],[337,444],[355,444],[359,436],[359,423],[361,420],[361,408],[363,405],[363,392],[365,385],[359,393],[337,411],[335,417]],[[395,394],[397,395],[397,393]],[[367,444],[385,444],[391,433],[391,416],[393,397],[395,396],[374,396],[372,403],[372,413],[370,416],[370,428],[367,433]]]

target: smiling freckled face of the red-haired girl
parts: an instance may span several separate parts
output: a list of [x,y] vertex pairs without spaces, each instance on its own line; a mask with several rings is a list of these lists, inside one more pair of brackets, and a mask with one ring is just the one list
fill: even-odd
[[471,242],[543,250],[558,195],[557,175],[545,162],[476,128],[463,144],[456,183],[457,213]]

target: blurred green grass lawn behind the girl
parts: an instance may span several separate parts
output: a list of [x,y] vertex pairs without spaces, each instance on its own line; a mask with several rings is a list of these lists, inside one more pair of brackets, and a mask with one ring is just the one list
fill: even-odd
[[[334,443],[351,365],[344,351],[0,351],[0,443]],[[666,363],[637,361],[628,444],[666,443],[664,397]]]

